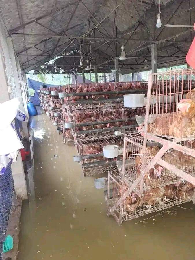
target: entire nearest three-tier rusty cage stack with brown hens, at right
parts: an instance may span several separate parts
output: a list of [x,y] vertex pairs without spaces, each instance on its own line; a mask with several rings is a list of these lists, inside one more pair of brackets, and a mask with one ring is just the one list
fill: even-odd
[[194,76],[194,70],[150,76],[144,123],[125,135],[122,167],[108,173],[107,213],[118,224],[195,202]]

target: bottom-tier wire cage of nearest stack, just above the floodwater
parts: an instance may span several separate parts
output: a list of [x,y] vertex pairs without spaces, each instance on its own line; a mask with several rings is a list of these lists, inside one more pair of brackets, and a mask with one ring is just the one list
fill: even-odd
[[[190,201],[194,193],[194,187],[187,182],[143,191],[141,198],[128,190],[129,185],[123,182],[117,168],[108,172],[107,212],[109,215],[114,207],[112,215],[118,224]],[[122,202],[118,204],[121,198]]]

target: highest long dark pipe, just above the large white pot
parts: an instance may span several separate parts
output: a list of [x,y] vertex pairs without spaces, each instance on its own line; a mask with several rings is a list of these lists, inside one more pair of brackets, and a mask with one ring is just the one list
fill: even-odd
[[103,91],[103,92],[81,92],[81,93],[67,93],[67,96],[90,96],[90,95],[109,95],[109,94],[130,94],[147,92],[147,89],[132,89],[119,91]]

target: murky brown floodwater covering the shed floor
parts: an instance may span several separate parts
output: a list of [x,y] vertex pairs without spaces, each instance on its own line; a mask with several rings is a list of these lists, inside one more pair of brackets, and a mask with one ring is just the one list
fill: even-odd
[[74,146],[63,144],[45,114],[36,118],[36,199],[23,203],[19,260],[195,259],[192,203],[181,206],[193,210],[174,207],[177,216],[166,213],[118,226],[106,215],[103,190],[94,188],[96,176],[83,177],[73,162]]

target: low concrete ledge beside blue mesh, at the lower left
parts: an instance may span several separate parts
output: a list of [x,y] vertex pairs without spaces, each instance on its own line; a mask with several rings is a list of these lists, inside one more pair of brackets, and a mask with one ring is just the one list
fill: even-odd
[[2,260],[7,260],[7,259],[16,260],[18,257],[21,208],[22,208],[22,199],[13,198],[6,236],[11,235],[13,237],[14,248],[5,254],[2,254]]

